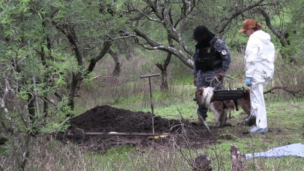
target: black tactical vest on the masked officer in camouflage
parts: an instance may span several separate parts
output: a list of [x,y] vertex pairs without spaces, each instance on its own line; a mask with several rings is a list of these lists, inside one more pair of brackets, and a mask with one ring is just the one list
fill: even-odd
[[217,38],[214,38],[210,47],[197,49],[197,58],[194,61],[197,70],[212,71],[222,68],[222,57],[214,48],[217,40]]

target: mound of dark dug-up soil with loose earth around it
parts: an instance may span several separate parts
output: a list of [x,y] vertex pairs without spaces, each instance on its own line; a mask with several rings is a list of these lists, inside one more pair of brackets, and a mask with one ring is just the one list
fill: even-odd
[[[84,144],[95,150],[128,144],[149,148],[157,145],[198,148],[216,143],[217,138],[231,138],[226,137],[227,135],[215,137],[205,127],[189,124],[188,120],[168,120],[159,116],[154,116],[155,134],[168,135],[158,139],[149,138],[153,135],[151,113],[133,112],[108,105],[96,106],[71,119],[69,124],[71,127],[64,133],[58,133],[57,138]],[[223,131],[221,128],[212,128],[215,135],[219,135],[221,131]],[[113,132],[127,135],[109,134]],[[137,133],[147,134],[136,135]]]

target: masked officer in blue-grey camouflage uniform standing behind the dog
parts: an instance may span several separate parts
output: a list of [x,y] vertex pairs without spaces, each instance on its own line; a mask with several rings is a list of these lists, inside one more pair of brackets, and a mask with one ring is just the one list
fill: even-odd
[[[193,33],[193,39],[197,41],[194,52],[194,85],[196,88],[210,86],[210,82],[206,81],[207,77],[217,76],[219,81],[223,80],[225,72],[228,70],[231,63],[231,55],[228,47],[221,39],[214,37],[215,35],[209,31],[206,26],[197,26]],[[213,47],[212,47],[213,45]],[[212,83],[212,87],[222,89]],[[192,121],[192,124],[203,125],[203,120],[206,120],[207,111],[205,107],[199,105],[197,114],[198,120]]]

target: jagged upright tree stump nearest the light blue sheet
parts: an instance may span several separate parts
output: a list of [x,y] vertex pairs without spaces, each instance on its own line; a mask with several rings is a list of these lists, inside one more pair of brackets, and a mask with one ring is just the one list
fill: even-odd
[[244,155],[240,152],[240,149],[236,145],[230,145],[230,155],[232,159],[232,170],[243,171],[245,169]]

